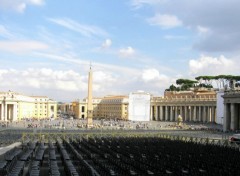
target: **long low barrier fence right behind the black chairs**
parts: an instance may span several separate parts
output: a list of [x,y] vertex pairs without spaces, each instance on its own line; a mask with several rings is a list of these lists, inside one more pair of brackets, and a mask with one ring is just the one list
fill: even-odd
[[49,141],[57,141],[58,139],[63,140],[81,140],[82,138],[101,138],[101,137],[156,137],[163,138],[169,140],[180,140],[185,142],[192,142],[198,144],[210,144],[210,145],[218,145],[236,148],[240,150],[240,145],[236,143],[231,143],[229,139],[219,139],[219,138],[200,138],[200,137],[189,137],[189,136],[181,136],[181,135],[170,135],[164,132],[24,132],[22,133],[22,142],[29,142],[38,140],[40,142],[48,143]]

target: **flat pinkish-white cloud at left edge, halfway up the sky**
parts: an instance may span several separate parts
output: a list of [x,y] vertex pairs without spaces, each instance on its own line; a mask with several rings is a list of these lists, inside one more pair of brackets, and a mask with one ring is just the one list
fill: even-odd
[[34,50],[44,50],[47,48],[47,44],[34,40],[0,41],[0,50],[13,53],[25,53]]

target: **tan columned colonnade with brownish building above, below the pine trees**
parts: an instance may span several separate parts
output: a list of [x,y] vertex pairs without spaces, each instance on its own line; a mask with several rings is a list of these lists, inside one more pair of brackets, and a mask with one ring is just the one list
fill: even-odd
[[151,120],[216,122],[216,92],[209,90],[169,91],[151,100]]

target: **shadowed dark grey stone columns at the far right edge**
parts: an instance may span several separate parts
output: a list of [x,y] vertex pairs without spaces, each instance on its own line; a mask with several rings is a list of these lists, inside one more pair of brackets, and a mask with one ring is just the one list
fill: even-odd
[[240,103],[224,103],[223,130],[240,130]]

